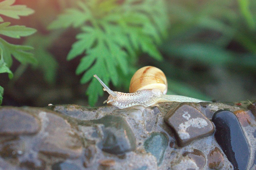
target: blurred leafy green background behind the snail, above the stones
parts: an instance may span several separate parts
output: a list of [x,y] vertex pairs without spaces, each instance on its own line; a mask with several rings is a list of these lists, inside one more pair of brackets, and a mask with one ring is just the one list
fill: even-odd
[[[0,34],[13,25],[26,25],[37,33],[20,39],[16,33],[0,35],[0,44],[22,45],[19,49],[24,47],[30,56],[22,62],[17,57],[22,55],[13,54],[12,64],[3,71],[14,72],[11,80],[0,74],[4,105],[94,105],[97,101],[96,105],[102,105],[108,95],[92,79],[94,74],[112,90],[128,92],[133,73],[146,65],[165,72],[168,94],[217,101],[255,100],[253,0],[14,3],[19,4],[34,13],[17,19],[5,17],[0,10],[5,22],[0,23]],[[11,58],[10,54],[1,56]]]

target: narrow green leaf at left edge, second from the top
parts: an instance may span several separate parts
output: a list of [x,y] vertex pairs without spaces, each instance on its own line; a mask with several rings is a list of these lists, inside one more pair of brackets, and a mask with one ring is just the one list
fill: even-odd
[[13,25],[9,26],[10,22],[4,22],[0,24],[0,34],[12,37],[20,38],[31,34],[34,34],[37,30],[34,28],[29,28],[24,25]]

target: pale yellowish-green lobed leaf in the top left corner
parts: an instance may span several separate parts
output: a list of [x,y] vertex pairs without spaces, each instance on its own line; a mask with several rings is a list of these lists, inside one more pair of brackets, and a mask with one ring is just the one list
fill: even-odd
[[[12,5],[15,0],[5,0],[0,2],[0,14],[14,18],[20,19],[19,16],[28,16],[34,13],[34,10],[27,8],[26,5]],[[0,22],[3,19],[0,17]]]

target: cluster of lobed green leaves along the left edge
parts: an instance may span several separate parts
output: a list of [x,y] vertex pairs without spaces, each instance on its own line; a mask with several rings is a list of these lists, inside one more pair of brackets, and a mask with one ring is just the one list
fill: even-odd
[[[20,16],[28,16],[34,11],[27,8],[25,5],[13,5],[15,0],[4,0],[0,2],[0,15],[8,16],[14,19],[19,19]],[[11,38],[28,36],[36,32],[33,28],[28,28],[24,25],[10,25],[10,22],[3,22],[0,16],[0,34]],[[37,60],[33,54],[28,52],[33,48],[24,45],[15,45],[6,42],[0,37],[0,73],[8,73],[11,79],[13,74],[9,69],[12,65],[12,56],[22,64],[34,64]],[[2,103],[3,88],[0,86],[0,104]]]

